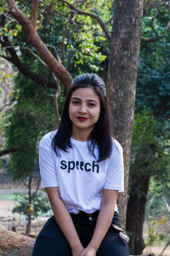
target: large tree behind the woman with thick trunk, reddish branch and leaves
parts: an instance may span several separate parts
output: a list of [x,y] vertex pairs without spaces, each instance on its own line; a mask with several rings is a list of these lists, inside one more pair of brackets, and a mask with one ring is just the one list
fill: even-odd
[[[115,129],[115,135],[118,138],[118,140],[122,143],[122,146],[124,148],[125,152],[125,174],[126,174],[126,180],[125,180],[125,189],[127,189],[127,182],[128,182],[128,162],[129,162],[129,155],[130,155],[130,145],[131,145],[131,137],[132,137],[132,127],[133,127],[133,108],[134,108],[134,96],[135,96],[135,82],[137,77],[137,64],[138,64],[138,54],[139,54],[139,42],[140,42],[140,28],[142,23],[142,11],[143,11],[143,3],[139,0],[133,0],[133,1],[122,1],[120,4],[119,1],[44,1],[41,2],[42,5],[38,7],[38,1],[33,1],[31,5],[31,11],[29,11],[29,8],[27,6],[23,6],[22,2],[19,3],[20,9],[23,10],[20,12],[20,9],[17,9],[14,1],[7,1],[8,7],[12,12],[12,15],[14,15],[15,20],[18,20],[20,23],[20,26],[22,26],[22,31],[25,33],[26,40],[32,46],[34,46],[37,49],[38,55],[41,57],[42,61],[44,61],[49,69],[54,73],[55,77],[60,80],[62,84],[65,85],[65,88],[68,88],[71,84],[71,65],[69,67],[66,67],[67,61],[71,61],[72,59],[67,59],[65,52],[65,49],[68,49],[68,52],[70,48],[62,47],[61,55],[62,55],[62,63],[59,62],[59,58],[54,58],[54,55],[51,55],[51,52],[49,52],[47,48],[47,41],[45,44],[42,42],[40,36],[39,36],[39,27],[42,26],[43,22],[41,17],[44,15],[45,12],[48,12],[48,15],[51,15],[53,17],[53,11],[58,12],[60,17],[62,17],[65,24],[64,33],[62,36],[62,40],[60,40],[60,43],[62,46],[67,46],[67,38],[65,37],[68,32],[68,25],[71,27],[72,25],[75,25],[76,28],[83,27],[83,31],[87,32],[87,26],[86,22],[89,20],[89,24],[96,25],[93,35],[98,35],[99,32],[102,32],[103,38],[105,38],[105,41],[102,37],[100,37],[99,34],[99,41],[93,41],[91,39],[91,43],[88,44],[87,35],[82,32],[81,29],[77,29],[77,32],[82,36],[82,38],[79,38],[82,40],[81,44],[79,42],[77,43],[77,40],[74,38],[72,41],[73,46],[79,46],[76,49],[82,50],[82,55],[80,55],[80,52],[77,51],[76,55],[74,57],[80,58],[82,56],[82,60],[79,59],[78,61],[74,61],[71,63],[76,63],[75,65],[82,65],[83,67],[91,68],[90,70],[96,70],[96,66],[94,67],[91,65],[91,58],[89,58],[90,61],[87,61],[86,55],[88,57],[91,57],[91,49],[93,49],[93,55],[94,56],[101,56],[101,61],[105,59],[105,55],[96,55],[96,53],[99,53],[98,49],[101,47],[101,49],[104,49],[104,46],[107,45],[107,47],[111,47],[110,54],[107,53],[107,55],[110,55],[110,60],[107,62],[105,60],[106,64],[108,63],[109,68],[105,67],[105,69],[102,67],[102,69],[99,70],[99,73],[102,73],[103,70],[107,73],[107,86],[108,86],[108,94],[109,94],[109,101],[111,104],[111,110],[112,114],[114,115],[114,121],[112,122],[112,126],[114,126]],[[155,4],[156,1],[144,1],[144,9],[150,9],[150,3]],[[25,3],[26,5],[26,3]],[[57,9],[55,8],[57,7]],[[148,7],[149,6],[149,7]],[[158,7],[162,7],[162,4],[159,3]],[[164,5],[163,5],[164,7]],[[166,7],[167,8],[167,7]],[[103,11],[101,11],[101,9]],[[52,10],[52,12],[51,12]],[[99,11],[102,15],[102,17],[99,15]],[[110,14],[109,19],[106,20],[105,13]],[[114,17],[113,17],[114,13]],[[30,15],[31,14],[31,15]],[[55,13],[56,14],[56,13]],[[6,11],[5,15],[8,15],[8,11]],[[83,17],[80,18],[80,15],[83,15],[83,17],[88,17],[88,19],[84,19]],[[5,16],[6,17],[6,16]],[[9,19],[11,17],[8,15]],[[28,19],[30,17],[30,19]],[[113,17],[113,18],[112,18]],[[81,22],[80,22],[80,20]],[[84,20],[83,20],[84,19]],[[3,15],[4,20],[4,15]],[[92,21],[93,20],[93,21]],[[112,26],[110,25],[110,21],[114,20],[112,23]],[[3,23],[3,21],[2,21]],[[10,28],[12,22],[9,22],[8,26]],[[50,23],[51,24],[51,23]],[[54,23],[54,25],[56,25]],[[63,24],[63,23],[62,23]],[[41,25],[41,26],[40,26]],[[80,26],[79,26],[80,25]],[[152,27],[152,32],[154,32],[152,24],[150,24],[150,27]],[[45,26],[44,26],[45,28]],[[91,26],[91,28],[93,28]],[[167,28],[164,30],[163,35],[161,37],[164,37]],[[60,26],[59,26],[60,29]],[[111,32],[112,30],[112,32]],[[7,32],[11,32],[12,29],[9,29]],[[38,32],[38,34],[37,34]],[[88,34],[90,35],[91,30],[88,29]],[[111,32],[111,33],[110,33]],[[156,35],[156,37],[152,38],[145,38],[142,37],[142,41],[144,42],[152,42],[153,40],[158,40],[160,37]],[[62,42],[61,42],[62,41]],[[107,41],[107,42],[106,42]],[[104,44],[102,44],[104,42]],[[26,41],[24,42],[26,44]],[[63,44],[64,43],[64,44]],[[76,44],[77,43],[77,44]],[[94,43],[94,44],[93,44]],[[8,35],[6,37],[4,36],[1,40],[1,44],[3,44],[3,47],[7,47],[8,49],[8,55],[3,55],[4,58],[8,58],[8,61],[13,61],[14,65],[18,65],[18,68],[20,70],[23,70],[20,65],[20,60],[18,60],[18,55],[14,55],[14,51],[11,51],[11,42],[8,40]],[[69,44],[68,44],[69,45]],[[85,45],[85,47],[84,47]],[[101,46],[100,46],[101,45]],[[84,47],[84,48],[83,48]],[[97,48],[96,48],[97,47]],[[10,49],[10,51],[9,51]],[[14,50],[14,47],[12,47]],[[31,47],[29,47],[31,49]],[[54,49],[54,48],[53,48]],[[75,48],[71,46],[70,54],[72,55],[72,49]],[[33,50],[31,49],[33,52]],[[54,51],[55,53],[56,51]],[[59,52],[59,50],[58,50]],[[16,51],[15,51],[16,53]],[[33,52],[34,53],[34,52]],[[64,58],[63,58],[64,56]],[[14,58],[15,57],[15,58]],[[17,60],[17,61],[16,61]],[[89,62],[89,65],[88,65]],[[94,61],[94,63],[99,63],[98,61]],[[65,67],[62,65],[64,64]],[[81,68],[82,68],[81,66]],[[74,66],[75,68],[75,66]],[[92,69],[93,68],[93,69]],[[107,72],[108,69],[108,72]],[[69,71],[69,72],[68,72]],[[25,73],[26,69],[25,69]],[[33,73],[35,74],[35,73]],[[29,73],[30,77],[35,76],[32,75],[32,73]],[[36,76],[37,78],[37,76]],[[51,78],[51,76],[49,76]],[[42,76],[39,76],[38,74],[38,81],[39,79],[42,79]],[[42,79],[43,80],[43,79]],[[41,80],[41,81],[42,81]],[[56,86],[55,83],[52,83],[50,79],[45,80],[46,84],[48,86]],[[44,84],[43,82],[42,84]],[[54,88],[54,87],[53,87]],[[124,206],[126,205],[126,195],[122,195],[122,202],[120,206],[122,206],[121,212],[124,212]]]

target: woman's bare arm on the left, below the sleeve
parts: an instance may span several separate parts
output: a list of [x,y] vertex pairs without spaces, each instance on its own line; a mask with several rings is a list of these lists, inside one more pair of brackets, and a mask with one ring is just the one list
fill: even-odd
[[77,235],[71,215],[60,198],[58,187],[46,188],[46,191],[54,212],[54,218],[71,246],[72,255],[80,256],[83,251],[82,243]]

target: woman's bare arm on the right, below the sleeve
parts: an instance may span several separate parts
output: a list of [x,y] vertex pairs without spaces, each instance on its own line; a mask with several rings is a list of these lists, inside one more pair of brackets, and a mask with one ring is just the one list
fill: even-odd
[[81,256],[95,256],[101,241],[103,240],[107,230],[111,225],[114,215],[118,191],[112,189],[103,189],[101,208],[99,217],[95,226],[94,235]]

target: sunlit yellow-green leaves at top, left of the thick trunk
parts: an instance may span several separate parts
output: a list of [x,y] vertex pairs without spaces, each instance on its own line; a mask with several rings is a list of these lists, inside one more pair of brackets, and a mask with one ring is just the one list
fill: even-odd
[[[75,5],[74,2],[72,3]],[[30,5],[31,3],[26,1],[18,3],[25,15],[30,14]],[[109,0],[86,1],[77,8],[99,15],[104,22],[113,15],[112,1]],[[111,32],[111,22],[105,26]],[[104,72],[105,65],[107,66],[109,43],[98,22],[91,17],[78,15],[76,12],[73,15],[66,4],[59,1],[44,1],[38,8],[37,32],[54,56],[64,63],[72,76],[82,72]],[[21,60],[26,61],[27,55],[27,65],[29,62],[32,65],[32,59],[34,63],[39,62],[33,55],[31,56],[29,49],[34,54],[37,52],[26,43],[26,38],[17,22],[6,19],[1,34],[12,39],[13,45],[18,46],[15,49]],[[6,54],[8,55],[7,51]]]

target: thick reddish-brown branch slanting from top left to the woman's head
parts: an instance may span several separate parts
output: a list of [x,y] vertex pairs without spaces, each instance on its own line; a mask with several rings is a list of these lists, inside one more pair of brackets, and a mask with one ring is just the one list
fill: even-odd
[[42,60],[47,64],[48,68],[54,73],[55,77],[60,80],[62,84],[65,85],[66,89],[70,88],[72,77],[71,74],[67,72],[65,67],[59,61],[54,58],[54,55],[50,52],[47,45],[42,42],[42,39],[37,34],[31,20],[26,18],[20,9],[16,6],[14,0],[7,0],[8,9],[12,15],[14,15],[15,20],[17,20],[22,26],[23,32],[26,35],[26,40],[28,43],[33,45]]

